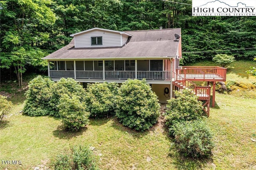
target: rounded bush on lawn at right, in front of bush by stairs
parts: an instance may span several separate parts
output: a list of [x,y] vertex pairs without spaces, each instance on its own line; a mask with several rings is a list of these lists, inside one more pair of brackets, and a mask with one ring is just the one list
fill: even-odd
[[214,147],[212,132],[205,121],[184,121],[173,126],[176,148],[184,156],[209,157]]

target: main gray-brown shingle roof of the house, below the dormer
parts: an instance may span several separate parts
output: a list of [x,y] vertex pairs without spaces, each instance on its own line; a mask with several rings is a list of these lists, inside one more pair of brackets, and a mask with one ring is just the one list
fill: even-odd
[[126,31],[132,35],[122,47],[74,48],[74,39],[43,59],[122,59],[142,57],[175,57],[178,41],[174,34],[181,34],[180,28],[144,31]]

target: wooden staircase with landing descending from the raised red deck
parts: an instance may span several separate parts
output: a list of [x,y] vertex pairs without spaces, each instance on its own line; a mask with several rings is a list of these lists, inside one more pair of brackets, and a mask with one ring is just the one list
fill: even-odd
[[[173,72],[174,73],[174,72]],[[182,77],[181,75],[174,73],[173,85],[179,89],[192,89],[193,93],[198,97],[198,100],[203,101],[204,112],[209,117],[210,115],[210,97],[211,86],[197,86],[192,81]]]

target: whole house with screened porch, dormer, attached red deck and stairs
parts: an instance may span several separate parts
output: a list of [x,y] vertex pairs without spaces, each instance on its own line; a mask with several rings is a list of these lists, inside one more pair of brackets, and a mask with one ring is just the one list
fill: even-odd
[[47,59],[48,75],[54,81],[61,77],[83,84],[146,79],[160,103],[174,97],[175,89],[192,88],[206,101],[209,113],[211,87],[198,87],[192,81],[215,85],[215,81],[226,80],[226,69],[180,67],[180,34],[180,28],[125,32],[92,28],[70,35],[74,38],[68,45],[43,59]]

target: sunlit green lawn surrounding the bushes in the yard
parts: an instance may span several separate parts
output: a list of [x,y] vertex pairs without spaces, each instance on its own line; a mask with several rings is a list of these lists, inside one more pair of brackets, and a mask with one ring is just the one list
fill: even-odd
[[[244,61],[236,62],[240,63],[230,65],[227,78],[253,81],[254,77],[240,75],[248,63],[236,69]],[[203,160],[184,158],[175,147],[170,147],[174,143],[162,121],[141,133],[123,127],[115,118],[92,119],[84,130],[72,133],[64,131],[61,121],[54,117],[22,115],[24,91],[11,100],[15,107],[1,128],[0,160],[21,160],[22,165],[6,166],[0,162],[0,169],[50,166],[54,156],[74,144],[95,147],[101,169],[256,169],[256,142],[250,139],[256,134],[256,99],[250,96],[216,93],[216,107],[210,109],[207,119],[215,134],[216,146],[212,158]],[[152,160],[148,162],[147,158]]]

